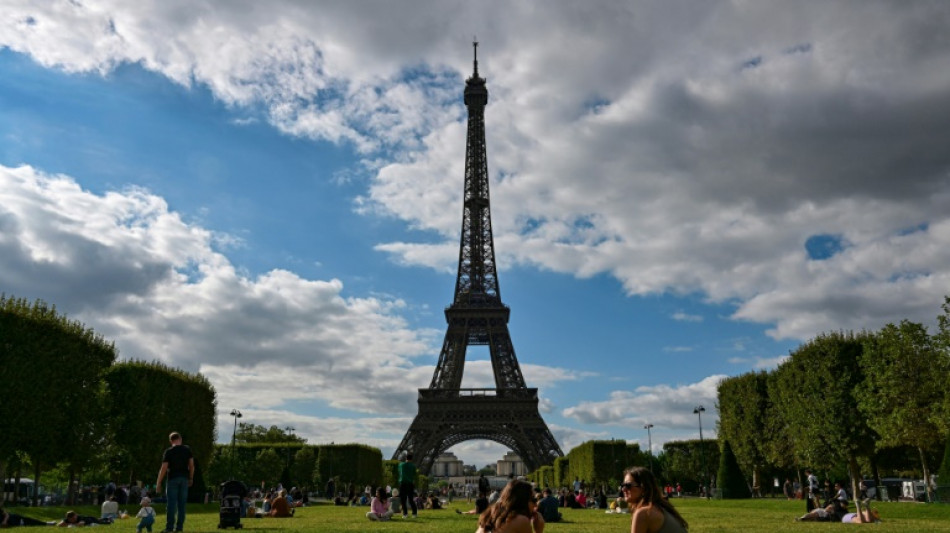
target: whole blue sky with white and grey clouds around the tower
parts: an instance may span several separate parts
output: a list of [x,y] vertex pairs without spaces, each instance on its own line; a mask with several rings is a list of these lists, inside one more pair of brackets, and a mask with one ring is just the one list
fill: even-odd
[[[234,420],[392,454],[445,333],[464,80],[567,452],[950,293],[950,3],[0,0],[0,293]],[[463,387],[492,387],[470,347]],[[653,424],[650,434],[645,424]],[[468,441],[466,464],[507,451]]]

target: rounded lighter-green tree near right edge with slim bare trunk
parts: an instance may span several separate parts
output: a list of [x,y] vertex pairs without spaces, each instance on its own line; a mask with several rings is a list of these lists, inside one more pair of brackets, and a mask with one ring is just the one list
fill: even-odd
[[938,419],[946,413],[939,406],[946,394],[950,359],[922,324],[902,320],[865,340],[861,366],[866,377],[860,407],[880,435],[879,447],[916,447],[932,499],[925,450],[940,442]]

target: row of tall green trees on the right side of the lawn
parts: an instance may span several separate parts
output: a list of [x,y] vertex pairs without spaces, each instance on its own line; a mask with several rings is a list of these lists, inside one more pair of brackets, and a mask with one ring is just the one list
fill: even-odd
[[950,298],[942,309],[934,334],[907,320],[825,333],[771,372],[724,380],[719,438],[752,484],[763,469],[801,465],[844,472],[856,485],[862,474],[879,478],[881,464],[908,447],[929,479],[931,458],[950,446]]

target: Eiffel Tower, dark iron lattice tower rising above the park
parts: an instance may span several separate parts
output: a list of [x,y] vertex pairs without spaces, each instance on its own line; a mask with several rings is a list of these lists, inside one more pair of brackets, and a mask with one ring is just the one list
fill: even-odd
[[[529,471],[564,455],[538,411],[538,389],[525,385],[508,334],[510,310],[498,290],[485,155],[488,89],[478,76],[478,42],[472,45],[474,73],[465,81],[468,140],[455,301],[445,309],[448,330],[432,382],[419,389],[419,414],[393,454],[397,459],[412,453],[422,473],[443,452],[473,439],[507,446]],[[460,388],[469,345],[488,345],[494,389]]]

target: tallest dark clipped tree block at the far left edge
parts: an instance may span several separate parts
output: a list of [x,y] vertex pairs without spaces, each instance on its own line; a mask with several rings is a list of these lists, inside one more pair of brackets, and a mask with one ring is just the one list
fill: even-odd
[[85,466],[103,433],[99,377],[115,358],[112,343],[55,306],[0,295],[0,461],[27,452],[37,484],[59,461]]

